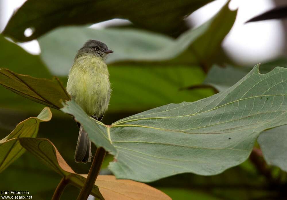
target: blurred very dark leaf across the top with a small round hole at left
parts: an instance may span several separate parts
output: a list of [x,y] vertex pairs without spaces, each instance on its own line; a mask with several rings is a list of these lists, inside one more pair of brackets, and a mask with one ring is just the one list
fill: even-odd
[[[163,5],[162,1],[152,0],[124,3],[119,0],[65,0],[56,4],[28,0],[11,17],[3,34],[20,41],[30,41],[59,26],[98,23],[113,18],[129,19],[138,27],[153,31],[174,33],[182,28],[184,17],[211,1],[167,0]],[[34,29],[30,37],[24,35],[27,28]]]

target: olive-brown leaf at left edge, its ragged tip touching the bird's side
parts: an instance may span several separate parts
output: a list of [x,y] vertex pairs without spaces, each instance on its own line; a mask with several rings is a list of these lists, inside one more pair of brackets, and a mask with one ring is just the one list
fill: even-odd
[[59,79],[41,79],[0,68],[0,85],[32,101],[61,108],[60,99],[70,99]]

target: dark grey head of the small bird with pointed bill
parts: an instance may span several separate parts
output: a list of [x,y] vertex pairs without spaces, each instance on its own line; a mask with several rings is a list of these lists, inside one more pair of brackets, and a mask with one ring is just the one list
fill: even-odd
[[102,59],[106,59],[109,53],[113,53],[112,50],[109,50],[107,45],[97,41],[97,40],[88,40],[81,49],[79,49],[75,59],[80,57],[83,54],[91,54]]

